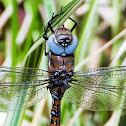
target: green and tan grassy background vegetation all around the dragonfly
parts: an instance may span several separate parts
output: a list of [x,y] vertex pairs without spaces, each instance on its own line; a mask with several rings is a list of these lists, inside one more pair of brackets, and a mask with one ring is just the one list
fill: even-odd
[[[0,1],[0,65],[45,68],[47,61],[43,55],[43,25],[47,24],[52,13],[57,12],[61,6],[63,14],[54,21],[54,29],[69,16],[78,22],[73,31],[79,40],[75,51],[75,71],[126,65],[125,0]],[[73,24],[67,20],[64,25],[71,28]],[[48,31],[48,35],[50,34]],[[50,108],[49,96],[27,110],[8,114],[1,112],[0,125],[47,126]],[[61,109],[61,124],[64,126],[125,125],[125,110],[91,112],[78,108],[65,99],[62,100]]]

